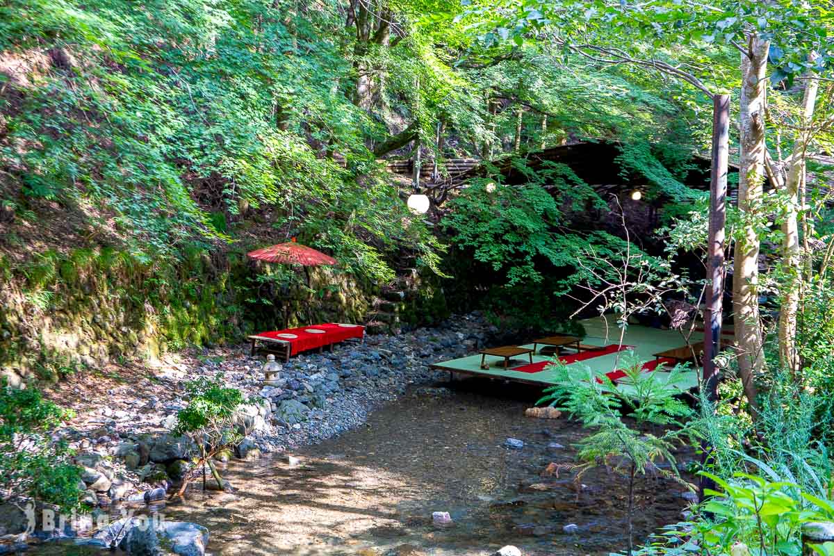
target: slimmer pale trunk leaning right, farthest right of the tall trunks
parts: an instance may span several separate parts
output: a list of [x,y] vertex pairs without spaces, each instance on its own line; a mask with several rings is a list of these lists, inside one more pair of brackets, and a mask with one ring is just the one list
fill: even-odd
[[[816,57],[811,55],[811,62]],[[810,77],[810,76],[809,76]],[[799,310],[802,283],[802,259],[799,245],[798,206],[805,203],[798,193],[805,191],[806,148],[811,138],[811,118],[816,106],[816,93],[819,80],[809,78],[805,93],[802,95],[799,137],[793,145],[791,163],[787,170],[784,190],[787,201],[785,219],[781,224],[782,268],[785,272],[785,295],[779,312],[779,358],[782,367],[790,369],[796,375],[799,372],[799,354],[796,351],[796,313]],[[795,379],[798,377],[795,376]]]

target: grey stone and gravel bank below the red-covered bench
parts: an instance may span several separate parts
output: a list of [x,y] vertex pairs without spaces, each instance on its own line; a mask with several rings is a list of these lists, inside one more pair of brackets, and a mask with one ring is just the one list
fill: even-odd
[[[121,503],[158,499],[159,489],[178,483],[188,471],[191,447],[171,430],[177,412],[188,403],[184,385],[190,380],[221,376],[244,393],[247,403],[238,422],[246,437],[234,455],[222,459],[254,459],[359,427],[374,408],[409,385],[442,378],[444,373],[431,370],[431,363],[471,353],[496,332],[474,313],[437,328],[368,336],[332,352],[291,358],[283,364],[279,384],[266,387],[264,354],[249,353],[248,346],[111,365],[48,389],[49,397],[76,413],[54,438],[78,451],[84,498],[95,508],[93,517],[113,514]],[[19,533],[15,529],[21,525],[19,519],[12,526],[0,523],[0,537]]]

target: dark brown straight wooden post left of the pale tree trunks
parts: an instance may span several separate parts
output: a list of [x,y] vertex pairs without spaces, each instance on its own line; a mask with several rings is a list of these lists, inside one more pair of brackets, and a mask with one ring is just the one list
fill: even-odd
[[[712,169],[710,178],[710,227],[706,249],[706,323],[704,326],[704,374],[701,388],[706,398],[718,401],[718,373],[715,357],[721,351],[721,301],[724,298],[724,226],[726,224],[727,160],[730,143],[730,95],[712,98]],[[711,459],[712,447],[701,443],[701,463]],[[715,489],[712,481],[701,478],[699,498],[704,499],[706,488]]]

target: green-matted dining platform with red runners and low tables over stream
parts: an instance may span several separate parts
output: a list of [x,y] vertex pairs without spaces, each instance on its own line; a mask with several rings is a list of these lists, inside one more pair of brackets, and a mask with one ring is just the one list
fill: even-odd
[[[575,350],[575,353],[560,355],[562,362],[569,367],[574,364],[585,365],[597,377],[614,373],[611,376],[619,379],[624,375],[624,373],[617,373],[617,371],[621,371],[625,364],[623,361],[624,352],[627,349],[632,349],[638,358],[641,358],[644,362],[649,362],[644,365],[646,372],[656,373],[656,376],[662,380],[673,379],[674,386],[680,388],[681,391],[697,387],[698,378],[694,369],[678,373],[673,377],[668,371],[674,366],[675,359],[657,358],[655,356],[656,353],[680,348],[685,343],[681,339],[681,333],[674,330],[661,330],[632,324],[626,328],[622,339],[623,345],[620,346],[620,330],[615,325],[610,324],[609,327],[606,327],[605,321],[600,317],[585,319],[581,324],[586,333],[585,338],[581,340],[581,347],[577,349],[575,345],[577,340],[575,340],[567,344]],[[536,342],[536,345],[538,344],[539,342]],[[532,353],[535,348],[533,343],[523,344],[518,348],[529,349],[531,353],[521,352],[521,357],[515,359],[511,356],[507,361],[508,366],[506,368],[504,356],[491,355],[485,353],[486,350],[464,358],[440,361],[434,363],[431,367],[449,371],[453,374],[529,383],[542,387],[555,383],[555,370],[548,368],[550,358]],[[487,368],[481,368],[482,360]],[[628,390],[630,386],[626,383],[618,383],[617,388]]]

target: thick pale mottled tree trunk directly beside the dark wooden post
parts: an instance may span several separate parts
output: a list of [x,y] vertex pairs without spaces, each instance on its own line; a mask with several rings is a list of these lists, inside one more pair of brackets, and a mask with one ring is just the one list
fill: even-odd
[[741,128],[738,208],[743,224],[736,237],[733,260],[733,309],[738,368],[751,413],[756,415],[755,379],[765,366],[759,315],[759,238],[756,213],[761,212],[765,173],[765,93],[769,43],[751,34],[748,51],[741,54]]

